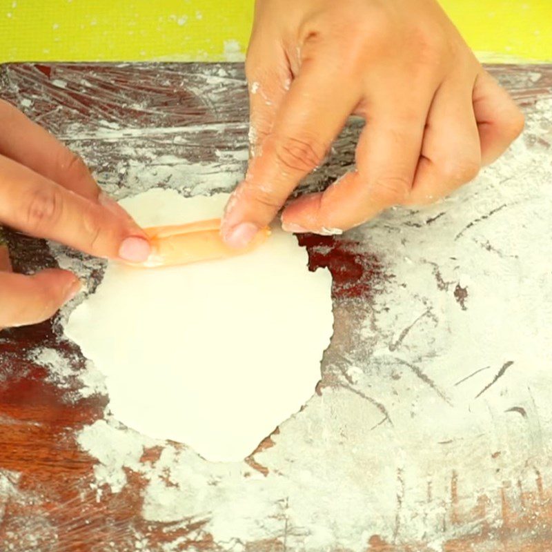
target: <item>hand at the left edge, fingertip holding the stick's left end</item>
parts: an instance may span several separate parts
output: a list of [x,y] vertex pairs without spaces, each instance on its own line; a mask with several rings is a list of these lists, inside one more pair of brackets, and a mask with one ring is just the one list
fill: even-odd
[[[142,262],[150,255],[143,230],[77,155],[1,100],[0,128],[0,224],[98,257]],[[13,273],[0,244],[0,328],[48,319],[80,288],[68,270]]]

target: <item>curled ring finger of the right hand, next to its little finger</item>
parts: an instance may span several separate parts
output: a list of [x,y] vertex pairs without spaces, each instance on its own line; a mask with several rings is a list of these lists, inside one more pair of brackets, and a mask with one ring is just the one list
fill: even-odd
[[428,114],[409,205],[424,205],[450,195],[481,168],[481,149],[471,86],[446,81],[437,90]]

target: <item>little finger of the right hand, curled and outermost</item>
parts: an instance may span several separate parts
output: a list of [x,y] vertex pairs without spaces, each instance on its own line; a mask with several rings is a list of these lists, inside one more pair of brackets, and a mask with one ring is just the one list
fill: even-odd
[[495,161],[521,134],[524,117],[500,84],[482,70],[473,88],[473,111],[481,142],[482,164]]

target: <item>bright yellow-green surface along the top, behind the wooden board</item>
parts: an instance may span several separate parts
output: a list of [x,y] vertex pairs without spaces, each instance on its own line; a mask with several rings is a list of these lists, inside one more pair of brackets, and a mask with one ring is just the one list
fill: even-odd
[[[481,59],[552,61],[552,0],[442,6]],[[232,61],[252,11],[253,0],[0,0],[0,61]]]

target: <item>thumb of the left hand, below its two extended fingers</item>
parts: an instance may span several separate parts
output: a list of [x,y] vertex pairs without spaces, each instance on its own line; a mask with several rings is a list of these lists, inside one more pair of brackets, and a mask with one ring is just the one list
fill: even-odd
[[37,324],[50,318],[81,288],[68,270],[48,269],[32,276],[0,273],[0,328]]

